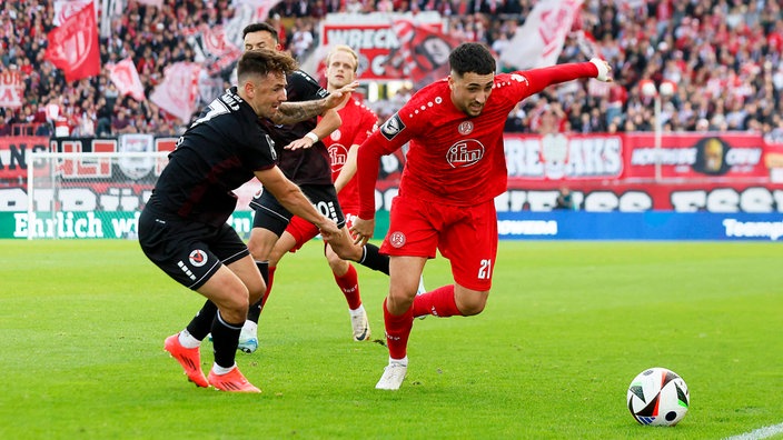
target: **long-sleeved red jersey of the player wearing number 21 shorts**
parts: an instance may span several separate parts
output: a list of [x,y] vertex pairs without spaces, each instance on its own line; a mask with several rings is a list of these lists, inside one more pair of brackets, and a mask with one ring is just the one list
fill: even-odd
[[375,217],[378,160],[410,142],[399,193],[454,206],[475,206],[506,190],[503,128],[517,102],[546,87],[594,78],[592,62],[495,76],[484,110],[468,117],[452,101],[448,81],[436,81],[370,136],[358,152],[359,218]]

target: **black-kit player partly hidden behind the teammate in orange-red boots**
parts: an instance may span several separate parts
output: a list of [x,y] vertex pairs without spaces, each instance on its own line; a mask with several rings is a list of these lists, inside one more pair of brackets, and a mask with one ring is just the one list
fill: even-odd
[[[242,30],[245,51],[259,49],[279,50],[277,31],[269,23],[254,23]],[[295,71],[288,77],[288,99],[291,102],[310,101],[329,94],[318,82],[303,71]],[[334,112],[334,110],[333,110]],[[339,121],[336,112],[335,117]],[[331,117],[331,116],[329,116]],[[331,182],[331,161],[326,146],[320,139],[326,138],[339,127],[324,127],[325,118],[318,122],[317,118],[304,120],[296,124],[283,124],[280,120],[266,121],[269,133],[275,144],[280,150],[279,167],[288,179],[296,182],[315,203],[316,208],[325,216],[337,222],[341,234],[329,238],[329,244],[335,252],[345,260],[357,261],[370,269],[389,272],[388,257],[381,256],[374,244],[356,246],[345,227],[345,216],[337,200],[337,191]],[[252,231],[248,248],[256,260],[261,274],[265,276],[267,286],[271,286],[275,267],[269,267],[269,257],[275,243],[280,238],[290,222],[293,213],[280,206],[275,196],[262,190],[250,202],[256,211]],[[258,303],[250,307],[248,319],[239,337],[239,349],[251,353],[258,348],[257,327],[261,308],[268,299],[269,289]],[[360,302],[360,300],[359,300]],[[360,334],[360,340],[369,340],[369,324],[363,306],[351,311],[354,334]],[[360,327],[360,328],[356,328]]]

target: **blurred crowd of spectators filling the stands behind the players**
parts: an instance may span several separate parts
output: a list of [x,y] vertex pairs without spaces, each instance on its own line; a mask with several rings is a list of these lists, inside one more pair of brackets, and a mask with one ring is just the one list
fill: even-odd
[[[538,0],[539,1],[539,0]],[[44,60],[53,8],[47,0],[6,0],[0,7],[2,70],[23,73],[24,104],[0,109],[0,136],[32,123],[53,133],[47,106],[58,106],[70,136],[128,132],[176,134],[185,124],[149,100],[121,97],[108,72],[68,83]],[[270,12],[281,43],[304,60],[318,44],[319,21],[331,12],[438,10],[449,34],[486,43],[496,53],[509,40],[536,0],[284,0]],[[225,22],[231,0],[163,0],[157,8],[128,0],[112,21],[111,37],[100,40],[101,62],[131,57],[147,96],[172,62],[192,61],[185,30]],[[509,116],[507,131],[623,132],[653,130],[652,98],[640,83],[672,81],[662,97],[666,131],[745,130],[783,141],[783,12],[770,0],[585,0],[575,29],[594,38],[566,39],[558,62],[584,61],[591,51],[614,68],[615,82],[556,88],[531,98]],[[592,49],[591,49],[592,48]],[[504,67],[508,69],[508,67]],[[593,81],[595,82],[595,81]],[[228,84],[226,82],[226,84]],[[410,90],[370,103],[380,118],[405,102]]]

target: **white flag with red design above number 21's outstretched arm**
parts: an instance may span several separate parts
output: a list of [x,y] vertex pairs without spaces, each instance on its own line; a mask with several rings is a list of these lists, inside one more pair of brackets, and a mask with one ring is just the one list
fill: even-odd
[[517,28],[500,62],[515,70],[554,66],[584,0],[538,1]]

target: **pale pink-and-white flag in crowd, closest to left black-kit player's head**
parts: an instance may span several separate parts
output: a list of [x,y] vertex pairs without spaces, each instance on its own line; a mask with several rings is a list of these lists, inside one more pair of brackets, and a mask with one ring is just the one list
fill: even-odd
[[198,101],[198,77],[201,66],[195,62],[177,62],[163,71],[163,82],[149,97],[156,106],[190,122]]

